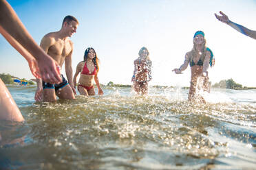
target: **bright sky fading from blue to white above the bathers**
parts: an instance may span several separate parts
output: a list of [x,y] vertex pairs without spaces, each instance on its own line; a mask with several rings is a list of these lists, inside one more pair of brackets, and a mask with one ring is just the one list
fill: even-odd
[[[173,69],[184,62],[193,47],[193,34],[204,31],[206,46],[215,56],[209,69],[212,84],[233,80],[243,86],[256,86],[256,40],[244,36],[215,19],[220,10],[228,18],[256,30],[255,0],[9,0],[34,40],[61,29],[63,18],[79,21],[72,54],[73,74],[87,47],[100,59],[99,82],[131,84],[134,60],[141,47],[147,47],[153,63],[149,85],[189,86],[188,66],[182,75]],[[28,62],[0,36],[0,73],[34,78]],[[62,73],[65,75],[65,66]],[[77,80],[78,81],[78,80]]]

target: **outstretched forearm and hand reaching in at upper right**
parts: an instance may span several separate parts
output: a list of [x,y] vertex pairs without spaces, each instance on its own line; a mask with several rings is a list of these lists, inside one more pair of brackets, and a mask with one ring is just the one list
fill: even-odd
[[241,32],[242,34],[249,36],[250,38],[256,39],[256,31],[250,30],[242,25],[239,25],[237,23],[233,23],[228,19],[228,16],[220,11],[220,14],[222,16],[215,14],[216,19],[219,21],[222,21],[222,23],[226,23],[227,25],[233,27],[233,29],[237,30],[237,32]]

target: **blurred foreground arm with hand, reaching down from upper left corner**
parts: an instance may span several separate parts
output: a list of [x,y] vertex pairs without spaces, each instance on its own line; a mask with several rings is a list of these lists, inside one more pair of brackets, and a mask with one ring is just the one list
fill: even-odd
[[[61,82],[60,73],[58,69],[56,69],[56,62],[36,44],[10,4],[5,0],[0,0],[0,25],[2,31],[5,30],[8,32],[14,40],[19,42],[24,49],[36,58],[40,75],[45,82],[55,84]],[[1,32],[1,34],[4,33]]]

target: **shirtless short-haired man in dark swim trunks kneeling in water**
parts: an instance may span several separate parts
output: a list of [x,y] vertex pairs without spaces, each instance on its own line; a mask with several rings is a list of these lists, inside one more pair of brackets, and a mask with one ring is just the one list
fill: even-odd
[[[41,40],[41,48],[51,56],[60,66],[65,61],[65,72],[67,80],[62,75],[63,81],[60,84],[50,84],[37,80],[37,90],[34,99],[36,101],[56,101],[56,95],[60,99],[74,99],[76,90],[73,84],[72,52],[73,43],[70,40],[76,32],[78,21],[74,16],[65,16],[61,30],[50,32]],[[68,81],[68,82],[67,82]]]

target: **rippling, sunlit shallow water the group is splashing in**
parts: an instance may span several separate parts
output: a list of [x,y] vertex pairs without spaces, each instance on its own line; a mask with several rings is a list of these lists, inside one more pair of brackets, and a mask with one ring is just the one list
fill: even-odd
[[1,169],[254,169],[256,90],[105,88],[103,97],[34,104],[8,86],[26,121],[0,122]]

